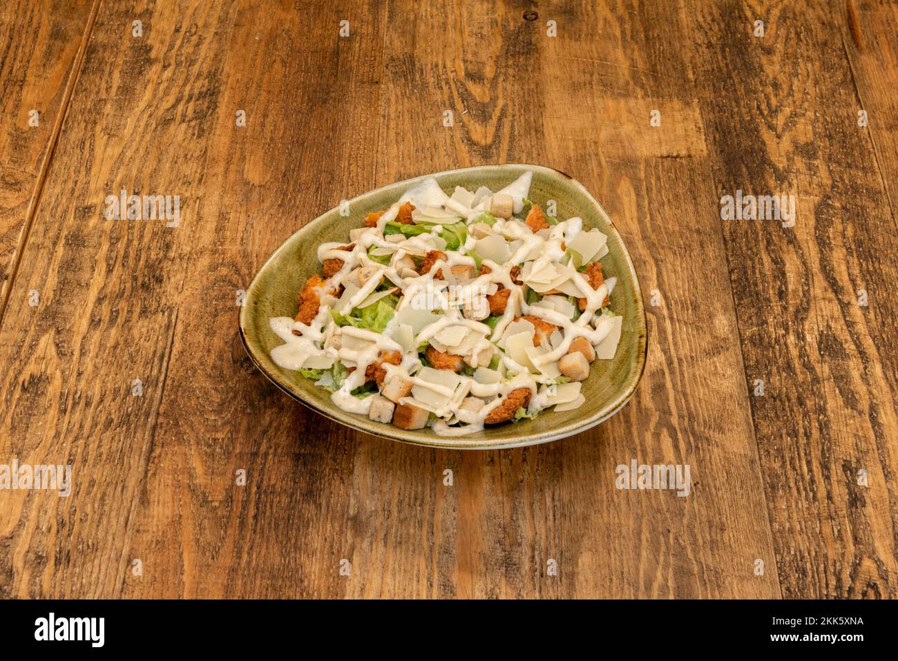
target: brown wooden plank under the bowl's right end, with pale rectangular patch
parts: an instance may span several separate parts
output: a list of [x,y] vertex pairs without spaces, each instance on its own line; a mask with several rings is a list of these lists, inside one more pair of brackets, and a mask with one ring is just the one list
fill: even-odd
[[[587,434],[592,442],[562,445],[562,493],[579,508],[564,516],[577,563],[568,594],[777,596],[726,257],[718,220],[701,213],[713,195],[706,128],[682,54],[657,48],[688,39],[692,22],[673,4],[647,3],[584,8],[558,23],[539,76],[550,164],[577,172],[621,230],[650,345],[628,408]],[[591,118],[592,130],[577,130]],[[631,459],[691,464],[696,489],[675,498],[589,480],[592,466]]]

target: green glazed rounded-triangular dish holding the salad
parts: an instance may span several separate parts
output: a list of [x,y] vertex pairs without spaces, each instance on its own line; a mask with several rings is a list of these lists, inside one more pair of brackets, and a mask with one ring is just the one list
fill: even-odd
[[390,207],[406,189],[431,175],[399,181],[349,200],[350,216],[340,216],[339,208],[330,209],[304,225],[271,255],[252,279],[240,313],[241,337],[253,362],[278,388],[322,415],[368,434],[417,445],[480,450],[534,445],[577,434],[610,418],[636,391],[646,365],[647,330],[636,270],[621,235],[603,208],[578,181],[540,165],[480,165],[432,176],[451,195],[455,186],[498,190],[527,170],[533,171],[531,199],[543,208],[546,200],[554,199],[560,219],[580,216],[586,228],[598,227],[608,234],[609,252],[602,260],[603,273],[605,278],[618,278],[611,308],[623,316],[621,342],[612,360],[593,363],[581,391],[586,401],[579,409],[560,413],[547,410],[537,419],[487,428],[470,436],[437,436],[427,427],[406,431],[338,409],[330,401],[330,392],[298,372],[278,367],[269,357],[269,351],[281,344],[271,331],[269,318],[295,316],[297,294],[306,278],[321,272],[316,258],[318,245],[348,242],[349,230],[361,226],[365,214]]

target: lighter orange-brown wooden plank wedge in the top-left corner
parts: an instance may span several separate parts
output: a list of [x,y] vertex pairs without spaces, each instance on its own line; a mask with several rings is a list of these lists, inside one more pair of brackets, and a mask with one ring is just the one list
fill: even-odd
[[52,154],[92,0],[0,7],[0,320]]

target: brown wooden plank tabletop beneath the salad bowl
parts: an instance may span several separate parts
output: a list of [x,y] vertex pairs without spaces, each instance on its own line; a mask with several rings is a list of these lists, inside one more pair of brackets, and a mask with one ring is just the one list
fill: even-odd
[[[5,2],[0,463],[72,493],[0,490],[0,595],[898,595],[896,32],[875,0]],[[297,227],[506,162],[629,247],[620,414],[437,452],[254,372],[240,290]],[[122,189],[180,224],[107,219]],[[737,190],[794,226],[722,220]],[[631,460],[691,494],[616,489]]]

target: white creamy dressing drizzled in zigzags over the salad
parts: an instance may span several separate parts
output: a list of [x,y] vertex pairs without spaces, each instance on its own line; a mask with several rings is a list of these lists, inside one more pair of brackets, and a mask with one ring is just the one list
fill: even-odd
[[[520,213],[524,208],[523,200],[529,193],[532,177],[532,172],[525,172],[516,181],[498,191],[513,198],[515,213]],[[393,238],[401,235],[389,235],[391,240],[383,235],[385,225],[395,219],[399,208],[407,201],[418,209],[442,208],[470,222],[479,217],[483,210],[489,209],[489,195],[485,195],[485,192],[488,191],[479,189],[478,194],[481,198],[478,203],[473,208],[465,207],[460,201],[447,196],[436,179],[428,177],[408,189],[398,202],[387,209],[378,219],[376,227],[369,228],[357,235],[354,234],[357,238],[351,251],[339,250],[339,248],[347,246],[348,243],[321,244],[317,251],[317,257],[321,262],[337,258],[343,261],[343,265],[321,287],[321,306],[313,322],[306,325],[302,322],[295,322],[289,317],[274,317],[269,321],[272,331],[284,341],[284,344],[271,350],[272,360],[278,366],[288,370],[327,369],[335,360],[339,360],[344,366],[354,367],[339,388],[331,393],[331,401],[341,410],[367,415],[374,398],[370,396],[356,397],[352,392],[365,384],[367,367],[376,362],[382,352],[398,351],[401,353],[400,365],[383,364],[387,378],[391,375],[401,375],[409,379],[413,387],[427,389],[428,392],[431,392],[436,398],[435,401],[445,398],[445,402],[440,406],[427,406],[410,396],[400,400],[430,410],[436,415],[437,419],[433,422],[432,428],[440,436],[462,436],[480,431],[484,428],[484,420],[489,412],[501,406],[509,392],[520,388],[527,388],[531,391],[529,412],[560,403],[553,401],[555,395],[552,384],[556,383],[554,378],[542,372],[545,368],[549,374],[559,374],[557,368],[554,368],[553,372],[548,367],[554,366],[559,358],[568,353],[574,339],[584,337],[593,345],[598,345],[612,332],[614,328],[612,315],[597,315],[596,313],[601,310],[605,295],[611,292],[614,278],[609,278],[605,284],[594,290],[580,273],[570,274],[569,281],[576,286],[576,290],[580,293],[579,297],[585,298],[586,301],[585,311],[575,321],[567,314],[545,305],[526,304],[524,287],[515,285],[511,277],[511,270],[515,265],[522,265],[524,262],[531,263],[531,273],[537,272],[537,269],[546,265],[563,263],[565,250],[561,244],[570,242],[583,230],[580,218],[569,218],[567,221],[552,225],[548,231],[543,230],[539,234],[533,234],[526,225],[514,218],[497,219],[491,228],[492,234],[504,237],[509,247],[514,247],[514,250],[510,252],[509,259],[502,263],[483,259],[482,263],[489,267],[490,272],[463,282],[459,282],[454,277],[452,268],[454,266],[471,266],[476,269],[476,261],[471,253],[476,252],[478,239],[472,234],[469,233],[467,240],[457,251],[445,250],[445,240],[439,236],[443,229],[442,225],[435,225],[427,234],[402,236],[401,240]],[[475,198],[475,196],[471,196],[471,198]],[[445,211],[442,213],[445,214]],[[372,247],[383,249],[384,254],[392,253],[389,265],[380,264],[369,257],[368,251]],[[445,252],[445,260],[436,260],[427,273],[418,275],[414,269],[414,262],[411,262],[409,258],[412,256],[423,258],[428,251],[433,250]],[[436,274],[441,272],[441,269],[444,279],[436,278]],[[365,278],[364,282],[361,281],[362,278]],[[337,326],[330,310],[339,309],[343,314],[352,313],[359,304],[375,292],[377,287],[383,283],[384,278],[401,290],[401,292],[396,292],[397,295],[401,295],[401,298],[392,320],[387,324],[383,333],[349,325]],[[492,331],[485,323],[467,319],[462,314],[462,310],[450,304],[446,290],[448,284],[465,287],[463,291],[480,292],[482,290],[478,287],[482,287],[488,294],[495,293],[500,285],[510,290],[511,294],[507,299],[506,310]],[[344,290],[338,298],[336,293],[339,291],[340,285],[344,286]],[[439,319],[421,326],[418,332],[412,335],[414,346],[404,348],[399,341],[394,339],[403,337],[397,320],[403,309],[412,306],[409,302],[417,300],[416,295],[422,294],[429,295],[433,311],[439,312]],[[528,366],[515,361],[507,351],[496,346],[499,339],[503,339],[506,329],[515,317],[524,314],[533,315],[553,324],[558,327],[561,336],[560,341],[550,350],[545,350],[548,348],[546,345],[541,353],[530,354],[528,352],[529,362],[537,370],[535,373]],[[458,374],[456,375],[458,384],[451,388],[445,384],[422,378],[423,373],[420,371],[422,363],[418,357],[418,346],[426,341],[436,341],[435,336],[439,335],[441,331],[453,327],[462,327],[467,333],[477,333],[476,337],[480,338],[475,342],[473,341],[475,337],[471,336],[472,346],[465,359],[470,358],[472,366],[480,364],[481,354],[488,357],[491,357],[494,352],[499,354],[499,376],[494,376],[498,379],[495,383],[481,383],[471,376]],[[408,329],[404,332],[406,333],[404,337],[409,337]],[[461,331],[457,331],[457,334],[464,338],[468,337],[467,333],[462,335]],[[454,335],[453,331],[449,331],[449,334]],[[484,352],[489,353],[484,354]],[[325,376],[327,378],[322,379],[321,383],[332,383],[330,373],[325,373]],[[462,407],[462,401],[468,395],[483,401],[478,410]],[[454,426],[458,423],[462,424]]]

